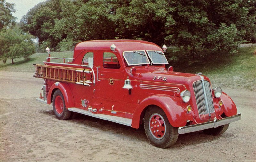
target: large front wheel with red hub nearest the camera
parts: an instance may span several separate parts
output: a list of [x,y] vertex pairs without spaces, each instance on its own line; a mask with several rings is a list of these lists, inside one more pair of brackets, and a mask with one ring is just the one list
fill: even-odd
[[171,126],[164,111],[157,106],[146,111],[144,129],[149,142],[159,148],[170,147],[176,143],[179,136],[178,128]]

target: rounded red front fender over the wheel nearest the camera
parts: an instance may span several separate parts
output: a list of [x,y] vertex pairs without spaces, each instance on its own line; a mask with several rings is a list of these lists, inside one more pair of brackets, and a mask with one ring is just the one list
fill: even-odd
[[169,95],[154,95],[145,98],[137,106],[132,117],[133,128],[139,128],[141,113],[149,105],[156,105],[163,109],[169,120],[169,123],[173,127],[181,127],[186,125],[186,111],[182,108],[179,97]]

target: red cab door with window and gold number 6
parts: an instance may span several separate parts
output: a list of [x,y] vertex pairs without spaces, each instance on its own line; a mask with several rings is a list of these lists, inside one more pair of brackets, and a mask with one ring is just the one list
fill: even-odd
[[98,85],[95,96],[100,100],[101,113],[124,117],[124,68],[120,56],[111,50],[101,51]]

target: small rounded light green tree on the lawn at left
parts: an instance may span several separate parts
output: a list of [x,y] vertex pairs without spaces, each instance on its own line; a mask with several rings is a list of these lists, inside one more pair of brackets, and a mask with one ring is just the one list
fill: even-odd
[[7,59],[23,57],[25,60],[35,53],[33,45],[34,36],[25,33],[18,26],[3,29],[0,32],[0,60],[5,63]]

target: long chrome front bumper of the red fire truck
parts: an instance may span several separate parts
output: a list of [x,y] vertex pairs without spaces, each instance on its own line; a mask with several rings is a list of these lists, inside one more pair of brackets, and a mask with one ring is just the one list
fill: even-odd
[[184,134],[184,133],[195,132],[195,131],[209,129],[209,128],[217,128],[219,126],[222,126],[222,125],[225,125],[228,123],[232,123],[232,122],[238,121],[240,119],[241,119],[241,114],[237,114],[237,115],[219,119],[219,120],[209,121],[209,122],[200,123],[200,124],[194,124],[194,125],[190,125],[190,126],[179,127],[178,133]]

